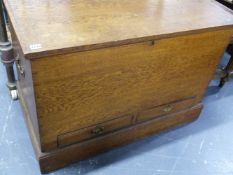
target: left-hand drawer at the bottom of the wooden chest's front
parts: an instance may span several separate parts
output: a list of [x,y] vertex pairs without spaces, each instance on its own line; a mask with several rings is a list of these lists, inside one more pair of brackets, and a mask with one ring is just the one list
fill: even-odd
[[99,137],[104,134],[128,127],[132,124],[132,122],[133,116],[127,115],[95,126],[62,134],[58,136],[58,146],[63,147],[73,143]]

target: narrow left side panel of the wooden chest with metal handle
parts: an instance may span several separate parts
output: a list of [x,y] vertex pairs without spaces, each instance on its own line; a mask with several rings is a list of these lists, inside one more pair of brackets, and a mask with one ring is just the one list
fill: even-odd
[[[11,33],[11,40],[12,46],[14,49],[14,56],[17,59],[17,90],[19,93],[19,99],[24,108],[25,117],[29,125],[30,131],[33,133],[32,137],[33,140],[36,142],[40,142],[39,136],[39,127],[38,127],[38,120],[37,120],[37,112],[36,112],[36,105],[35,105],[35,97],[34,97],[34,88],[33,88],[33,81],[32,81],[32,72],[31,72],[31,63],[30,60],[25,59],[20,43],[18,38],[15,34],[15,31],[12,27],[11,21],[9,19],[9,29]],[[22,72],[19,71],[18,67],[22,68]]]

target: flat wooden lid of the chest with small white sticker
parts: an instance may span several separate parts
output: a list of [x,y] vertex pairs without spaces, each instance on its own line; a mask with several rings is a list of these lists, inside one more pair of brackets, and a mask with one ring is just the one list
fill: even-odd
[[26,58],[230,27],[214,0],[4,0]]

